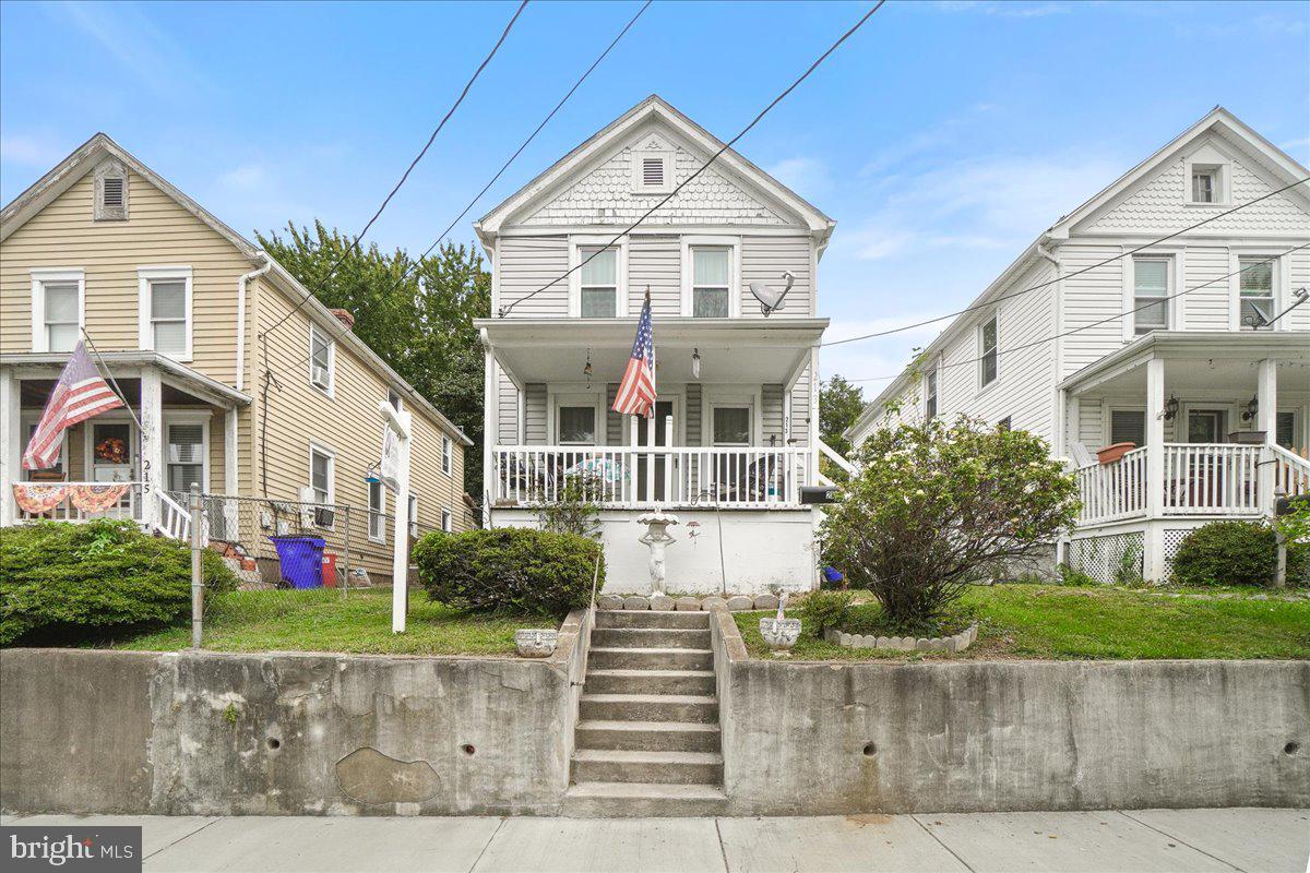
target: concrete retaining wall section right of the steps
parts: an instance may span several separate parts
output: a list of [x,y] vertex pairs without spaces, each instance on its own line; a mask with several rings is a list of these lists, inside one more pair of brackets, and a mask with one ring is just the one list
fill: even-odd
[[734,814],[1310,805],[1310,662],[747,658],[713,645]]

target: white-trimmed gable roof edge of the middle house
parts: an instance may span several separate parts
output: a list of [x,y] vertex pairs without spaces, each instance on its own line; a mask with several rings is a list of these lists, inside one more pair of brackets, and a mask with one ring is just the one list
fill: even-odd
[[[490,243],[510,217],[521,212],[529,204],[544,202],[550,195],[562,191],[570,181],[580,177],[605,157],[609,157],[625,136],[635,132],[652,119],[662,122],[675,134],[681,135],[697,148],[711,154],[723,148],[722,140],[673,109],[673,106],[658,94],[651,94],[502,200],[478,221],[474,221],[473,229],[483,243]],[[794,213],[820,240],[820,245],[832,234],[836,221],[799,194],[744,158],[735,149],[723,152],[714,161],[713,166],[734,181],[743,183],[752,192],[760,194],[765,200],[779,204],[787,212]]]

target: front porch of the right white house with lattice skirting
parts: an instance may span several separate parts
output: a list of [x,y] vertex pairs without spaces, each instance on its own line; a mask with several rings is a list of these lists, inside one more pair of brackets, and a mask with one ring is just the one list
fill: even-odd
[[1158,580],[1191,527],[1268,517],[1277,496],[1310,492],[1306,334],[1151,334],[1061,393],[1082,499],[1074,551],[1127,537]]

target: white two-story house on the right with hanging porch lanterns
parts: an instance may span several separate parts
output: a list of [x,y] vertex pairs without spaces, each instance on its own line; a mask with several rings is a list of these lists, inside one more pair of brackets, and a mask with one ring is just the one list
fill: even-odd
[[854,441],[959,414],[1038,433],[1081,487],[1064,560],[1166,579],[1193,527],[1310,490],[1307,177],[1214,109],[1034,241]]

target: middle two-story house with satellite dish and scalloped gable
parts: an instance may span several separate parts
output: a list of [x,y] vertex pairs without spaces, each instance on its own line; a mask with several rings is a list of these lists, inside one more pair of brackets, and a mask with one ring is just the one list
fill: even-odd
[[[476,225],[494,268],[493,317],[477,322],[486,522],[534,525],[570,474],[591,471],[612,592],[648,590],[635,520],[654,505],[680,521],[669,592],[816,579],[799,490],[819,476],[828,321],[815,314],[815,270],[833,221],[727,151],[612,242],[722,145],[650,97]],[[751,283],[789,281],[783,308],[764,317]],[[620,416],[647,291],[659,399],[648,419]]]

